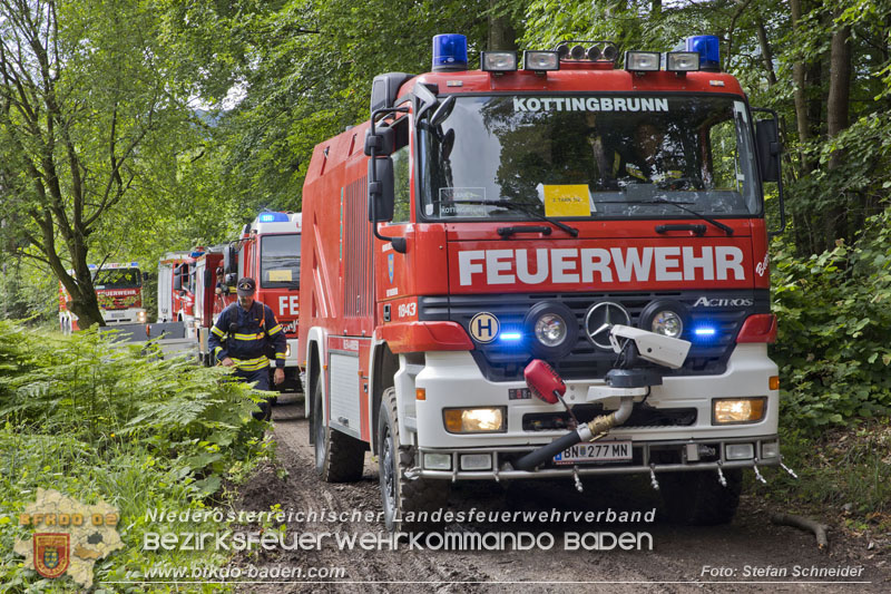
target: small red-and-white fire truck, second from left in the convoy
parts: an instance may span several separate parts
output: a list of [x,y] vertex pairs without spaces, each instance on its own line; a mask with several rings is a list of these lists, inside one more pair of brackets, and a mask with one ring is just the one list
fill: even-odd
[[203,249],[170,252],[158,262],[158,322],[184,322],[186,337],[195,335],[195,284],[190,274]]

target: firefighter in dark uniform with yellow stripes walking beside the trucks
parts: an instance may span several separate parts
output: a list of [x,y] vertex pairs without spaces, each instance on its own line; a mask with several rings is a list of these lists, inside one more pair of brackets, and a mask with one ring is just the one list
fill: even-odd
[[[270,358],[267,344],[275,348],[276,384],[285,379],[285,349],[287,341],[275,314],[260,301],[254,301],[256,282],[244,277],[235,285],[238,301],[219,314],[210,329],[209,348],[214,357],[225,367],[235,367],[235,376],[247,383],[256,382],[255,389],[270,390]],[[268,420],[272,406],[264,400],[256,418]]]

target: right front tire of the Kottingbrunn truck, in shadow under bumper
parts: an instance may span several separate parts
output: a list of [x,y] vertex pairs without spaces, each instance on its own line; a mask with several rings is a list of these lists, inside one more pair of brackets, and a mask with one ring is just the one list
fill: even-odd
[[730,524],[740,506],[743,471],[740,468],[724,470],[724,478],[726,487],[718,483],[714,470],[660,477],[659,490],[670,520],[688,526]]

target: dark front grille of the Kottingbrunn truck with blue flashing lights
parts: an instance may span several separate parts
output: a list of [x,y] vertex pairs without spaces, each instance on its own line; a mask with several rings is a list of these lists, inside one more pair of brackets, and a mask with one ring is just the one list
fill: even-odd
[[[702,298],[751,300],[751,305],[742,306],[694,306]],[[707,323],[715,329],[708,339],[682,338],[691,340],[687,360],[677,370],[662,368],[664,376],[716,376],[726,370],[727,359],[735,344],[736,334],[743,321],[753,313],[766,313],[770,310],[767,291],[708,291],[708,292],[640,292],[640,293],[535,293],[505,295],[444,295],[422,296],[419,300],[421,320],[454,321],[468,330],[470,320],[479,312],[496,315],[505,330],[522,329],[523,318],[531,306],[541,301],[559,302],[575,314],[579,332],[576,345],[560,360],[548,361],[565,380],[603,378],[616,363],[616,354],[611,350],[595,347],[584,331],[585,315],[593,304],[611,301],[623,305],[631,318],[631,325],[637,325],[643,310],[653,301],[676,301],[689,311],[688,329]],[[686,331],[685,331],[686,332]],[[526,340],[535,340],[526,337]],[[488,344],[474,344],[471,351],[473,359],[483,376],[490,381],[522,380],[522,370],[532,360],[528,347],[520,343],[506,343],[496,340]]]

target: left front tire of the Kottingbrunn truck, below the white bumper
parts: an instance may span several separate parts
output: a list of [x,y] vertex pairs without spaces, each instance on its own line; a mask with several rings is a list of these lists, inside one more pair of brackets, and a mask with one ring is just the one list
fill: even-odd
[[451,484],[448,480],[405,478],[412,452],[402,445],[396,422],[395,389],[388,388],[378,416],[378,464],[384,524],[390,532],[429,528],[425,522],[407,522],[409,513],[433,512],[446,507]]

